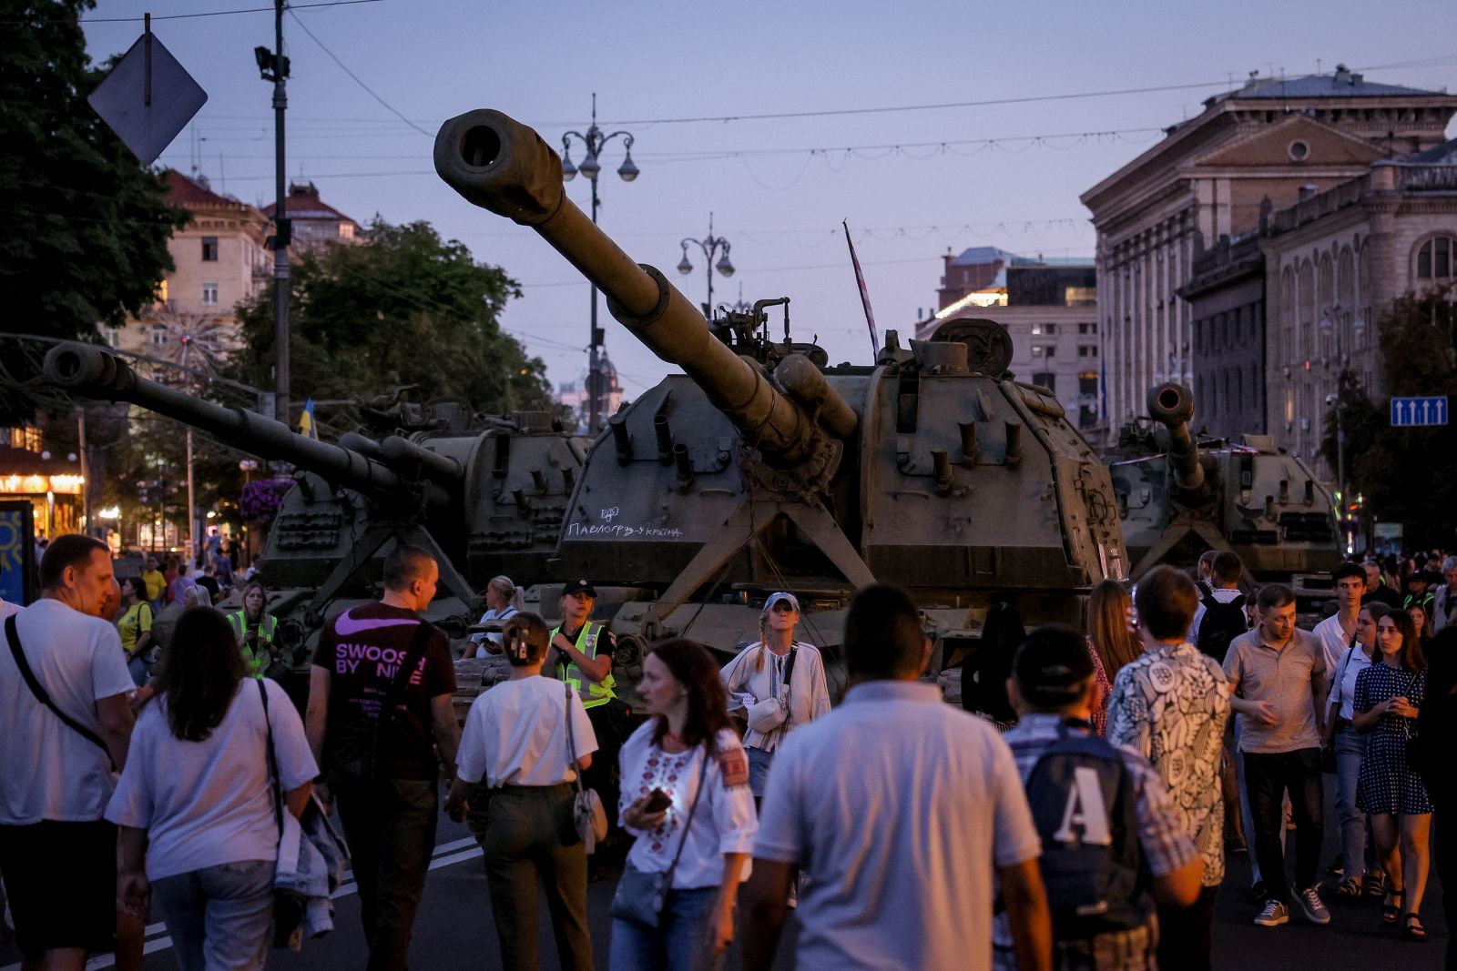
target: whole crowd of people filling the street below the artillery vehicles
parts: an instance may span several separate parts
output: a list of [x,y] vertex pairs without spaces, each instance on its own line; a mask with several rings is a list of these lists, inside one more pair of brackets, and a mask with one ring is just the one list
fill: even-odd
[[[589,579],[551,626],[498,576],[465,652],[510,675],[463,731],[450,639],[423,617],[428,550],[398,544],[380,600],[325,625],[302,718],[270,677],[287,659],[268,591],[248,582],[223,613],[163,566],[122,598],[105,544],[55,537],[41,598],[0,610],[0,875],[26,967],[114,951],[137,968],[160,917],[179,967],[259,968],[280,847],[337,820],[367,967],[405,968],[441,809],[479,840],[507,968],[541,964],[542,895],[573,970],[599,951],[624,971],[718,968],[736,939],[769,968],[791,908],[797,967],[1209,968],[1241,850],[1256,924],[1370,900],[1390,933],[1426,938],[1434,818],[1454,805],[1457,558],[1343,563],[1311,630],[1289,587],[1253,585],[1228,552],[1099,584],[1083,629],[1027,630],[998,598],[962,664],[967,710],[927,678],[932,642],[889,585],[849,601],[832,705],[779,591],[727,664],[653,645],[641,718]],[[1340,857],[1323,875],[1326,773]],[[587,924],[594,804],[631,843],[606,942]],[[332,885],[305,876],[290,892],[323,911],[313,933]]]

